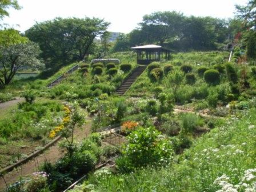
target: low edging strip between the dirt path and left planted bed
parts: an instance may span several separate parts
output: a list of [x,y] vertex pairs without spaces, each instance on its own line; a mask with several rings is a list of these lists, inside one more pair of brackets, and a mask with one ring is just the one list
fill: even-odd
[[43,149],[39,149],[37,151],[35,151],[34,153],[30,154],[29,157],[22,159],[20,161],[18,161],[17,163],[14,163],[13,165],[9,165],[3,169],[0,170],[0,174],[4,175],[5,172],[10,172],[12,171],[14,168],[22,165],[23,163],[26,163],[28,161],[30,161],[31,159],[33,159],[34,157],[36,157],[38,154],[41,154],[43,151],[45,151],[46,149],[48,149],[49,147],[53,146],[56,142],[59,141],[59,139],[61,139],[61,136],[59,135],[58,137],[56,137],[55,139],[53,139],[53,141],[51,141],[50,143],[48,143],[47,145],[43,146]]

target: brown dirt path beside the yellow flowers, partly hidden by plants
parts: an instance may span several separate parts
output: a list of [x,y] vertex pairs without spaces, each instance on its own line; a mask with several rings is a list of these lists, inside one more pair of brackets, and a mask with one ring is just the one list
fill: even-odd
[[[91,128],[91,118],[87,118],[86,125],[83,126],[81,129],[75,129],[74,135],[76,141],[82,141],[87,135],[90,134]],[[62,140],[62,139],[61,139]],[[31,161],[25,163],[18,169],[11,171],[10,173],[5,175],[5,181],[8,185],[18,181],[20,177],[27,177],[28,175],[34,173],[38,170],[38,165],[42,165],[43,162],[48,161],[51,163],[56,162],[59,158],[61,158],[64,153],[63,151],[59,150],[57,142],[54,146],[50,147],[46,150],[43,154],[39,155],[38,157],[32,159]],[[5,189],[6,184],[3,178],[0,179],[0,190]]]

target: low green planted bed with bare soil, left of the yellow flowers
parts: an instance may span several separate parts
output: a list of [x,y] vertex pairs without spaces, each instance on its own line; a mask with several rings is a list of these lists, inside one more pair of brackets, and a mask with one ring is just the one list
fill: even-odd
[[20,103],[5,114],[0,119],[0,166],[17,162],[51,141],[49,133],[61,124],[64,113],[62,103],[41,99]]

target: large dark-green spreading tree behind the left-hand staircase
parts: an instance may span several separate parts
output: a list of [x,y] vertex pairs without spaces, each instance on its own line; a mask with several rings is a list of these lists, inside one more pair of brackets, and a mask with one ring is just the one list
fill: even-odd
[[98,18],[55,18],[36,23],[25,35],[41,47],[46,67],[54,68],[83,60],[94,38],[105,33],[107,26],[108,22]]

